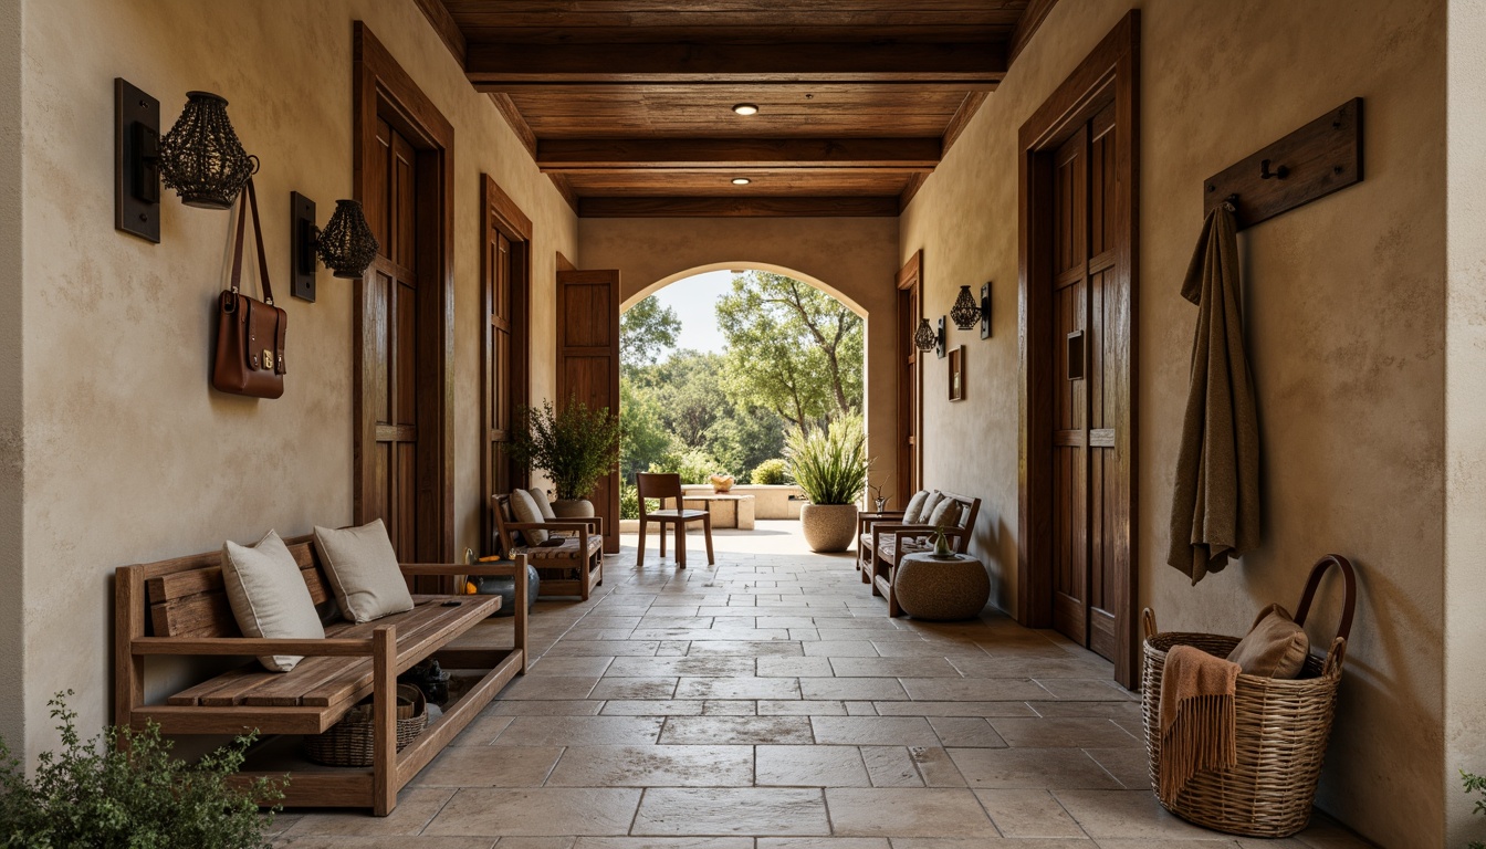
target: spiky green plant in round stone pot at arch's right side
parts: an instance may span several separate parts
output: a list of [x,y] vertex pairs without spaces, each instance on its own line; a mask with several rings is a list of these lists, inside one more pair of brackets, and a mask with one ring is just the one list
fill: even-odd
[[866,434],[860,416],[791,433],[785,459],[810,500],[799,510],[805,544],[811,552],[847,550],[856,532],[856,501],[866,488]]

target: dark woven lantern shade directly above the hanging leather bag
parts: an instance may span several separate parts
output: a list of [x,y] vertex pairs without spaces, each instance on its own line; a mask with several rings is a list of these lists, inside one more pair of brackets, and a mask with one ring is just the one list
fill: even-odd
[[259,170],[227,120],[227,101],[205,91],[186,92],[186,109],[160,138],[160,175],[187,207],[229,210]]

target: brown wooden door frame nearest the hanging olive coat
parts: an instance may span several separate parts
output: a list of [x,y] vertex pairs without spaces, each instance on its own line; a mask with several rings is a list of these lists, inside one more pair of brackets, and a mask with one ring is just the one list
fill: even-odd
[[1135,636],[1140,595],[1137,531],[1137,354],[1140,245],[1140,10],[1132,9],[1100,42],[1094,52],[1021,126],[1018,171],[1021,177],[1021,238],[1018,263],[1018,535],[1016,535],[1016,616],[1030,627],[1052,624],[1052,288],[1051,155],[1068,135],[1101,109],[1114,104],[1114,180],[1119,220],[1123,232],[1116,239],[1114,275],[1123,284],[1126,300],[1113,326],[1123,330],[1128,351],[1119,382],[1129,388],[1116,421],[1117,465],[1123,485],[1116,488],[1123,501],[1116,511],[1113,532],[1123,540],[1114,546],[1123,558],[1128,580],[1119,587],[1114,613],[1122,616],[1114,633],[1114,679],[1134,688],[1140,675]]

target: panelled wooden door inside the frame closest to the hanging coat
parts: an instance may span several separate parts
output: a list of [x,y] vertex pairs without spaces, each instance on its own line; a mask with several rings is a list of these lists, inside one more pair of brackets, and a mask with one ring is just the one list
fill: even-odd
[[1113,104],[1052,158],[1052,619],[1098,654],[1116,653],[1123,580],[1113,532],[1119,503],[1116,419],[1120,333]]

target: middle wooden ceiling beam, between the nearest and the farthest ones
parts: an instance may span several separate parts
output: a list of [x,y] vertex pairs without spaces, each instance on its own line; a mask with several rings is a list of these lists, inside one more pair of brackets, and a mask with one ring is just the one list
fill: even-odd
[[544,138],[542,171],[887,168],[933,171],[938,138]]

